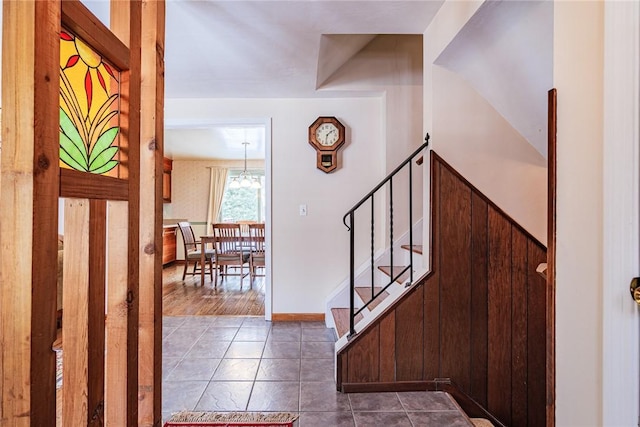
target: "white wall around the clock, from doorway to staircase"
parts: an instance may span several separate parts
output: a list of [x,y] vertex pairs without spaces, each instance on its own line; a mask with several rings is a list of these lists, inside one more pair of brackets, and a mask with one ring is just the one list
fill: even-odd
[[[271,118],[273,313],[323,313],[326,297],[348,277],[349,234],[342,217],[422,143],[421,70],[420,36],[384,35],[373,38],[320,89],[361,91],[363,98],[166,101],[167,123]],[[316,168],[316,152],[308,143],[308,127],[318,116],[336,116],[346,127],[347,143],[331,174]],[[399,201],[406,199],[406,190],[398,181],[396,236],[408,229],[408,206]],[[419,179],[414,196],[416,222]],[[376,198],[380,209],[383,199]],[[308,207],[306,217],[298,214],[300,204]],[[376,236],[384,236],[383,214],[377,215]],[[357,224],[360,265],[370,254],[369,218]],[[378,238],[375,248],[386,244]]]

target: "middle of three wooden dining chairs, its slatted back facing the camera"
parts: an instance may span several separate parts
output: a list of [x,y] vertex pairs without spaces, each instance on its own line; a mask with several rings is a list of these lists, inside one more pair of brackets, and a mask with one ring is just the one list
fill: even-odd
[[[225,276],[239,276],[240,289],[242,280],[249,274],[244,272],[244,264],[249,261],[249,253],[242,250],[243,237],[239,224],[213,224],[213,249],[215,253],[216,265],[215,286],[218,285],[218,269],[221,280]],[[229,273],[228,268],[240,269],[240,273]]]

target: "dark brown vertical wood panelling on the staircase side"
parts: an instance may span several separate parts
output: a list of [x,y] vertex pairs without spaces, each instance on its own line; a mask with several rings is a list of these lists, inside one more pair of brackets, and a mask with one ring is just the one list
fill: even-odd
[[505,425],[544,425],[546,249],[431,156],[432,271],[341,351],[338,385],[450,378]]

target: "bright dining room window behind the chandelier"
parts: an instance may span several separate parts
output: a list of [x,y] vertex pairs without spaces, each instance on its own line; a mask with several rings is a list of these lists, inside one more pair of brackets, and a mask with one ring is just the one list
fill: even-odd
[[222,199],[222,206],[220,207],[220,220],[221,222],[236,222],[243,220],[264,222],[264,170],[247,171],[260,181],[260,188],[229,188],[231,180],[240,175],[240,172],[242,171],[229,171],[224,197]]

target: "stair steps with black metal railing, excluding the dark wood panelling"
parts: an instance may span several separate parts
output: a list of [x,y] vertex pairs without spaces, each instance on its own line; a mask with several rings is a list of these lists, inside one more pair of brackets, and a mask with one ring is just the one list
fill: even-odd
[[[422,153],[428,144],[429,135],[425,138],[424,144],[387,175],[343,218],[350,233],[350,275],[349,280],[329,298],[326,316],[327,326],[334,327],[338,336],[336,351],[398,300],[415,283],[415,279],[426,273],[426,269],[422,267],[422,219],[414,221],[413,218],[416,197],[413,188],[414,180],[423,178],[423,168],[416,167],[414,163],[418,166],[422,164]],[[414,159],[417,161],[414,162]],[[419,196],[418,200],[421,200],[422,195]],[[384,209],[382,205],[386,205]],[[384,215],[381,215],[381,211]],[[370,233],[370,236],[367,236],[369,245],[366,248],[366,256],[362,254],[362,244],[359,248],[361,253],[357,253],[355,232],[358,229],[362,233],[364,227],[361,223],[355,223],[356,215],[360,222],[369,222],[365,224],[367,232]],[[381,253],[376,253],[376,243],[379,245],[381,240],[375,235],[376,222],[384,224],[385,229],[382,234],[387,246]],[[406,230],[402,230],[402,234],[398,233],[399,227]],[[398,234],[401,234],[400,237]],[[362,239],[362,236],[360,238]],[[362,262],[358,271],[355,267],[356,258],[368,258]]]

